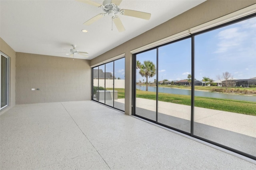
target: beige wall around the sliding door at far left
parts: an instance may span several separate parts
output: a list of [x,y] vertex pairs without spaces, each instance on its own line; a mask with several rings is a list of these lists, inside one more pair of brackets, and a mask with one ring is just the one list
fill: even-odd
[[10,57],[10,95],[9,95],[9,107],[0,111],[4,113],[15,105],[15,77],[16,77],[16,52],[0,38],[0,51]]

